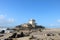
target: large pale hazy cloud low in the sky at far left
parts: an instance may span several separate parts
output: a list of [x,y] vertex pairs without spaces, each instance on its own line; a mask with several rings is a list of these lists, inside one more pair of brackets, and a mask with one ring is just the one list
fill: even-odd
[[14,23],[14,18],[7,18],[6,15],[0,15],[0,25],[7,25]]

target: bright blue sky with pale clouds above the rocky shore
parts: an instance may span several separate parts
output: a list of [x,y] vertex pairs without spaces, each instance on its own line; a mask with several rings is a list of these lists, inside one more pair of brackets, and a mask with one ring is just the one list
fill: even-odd
[[60,28],[60,0],[0,0],[0,26],[35,19],[38,25]]

